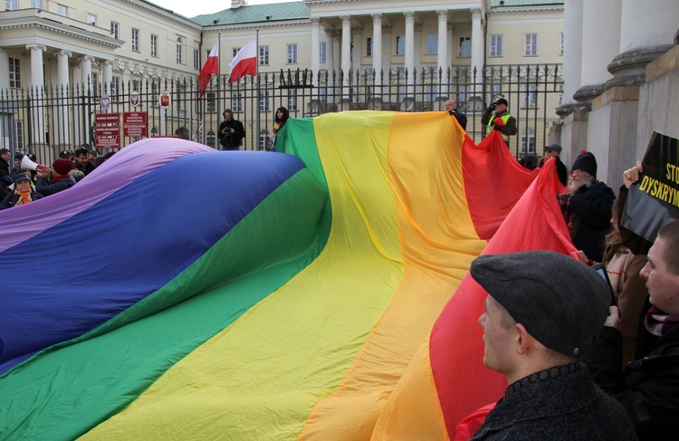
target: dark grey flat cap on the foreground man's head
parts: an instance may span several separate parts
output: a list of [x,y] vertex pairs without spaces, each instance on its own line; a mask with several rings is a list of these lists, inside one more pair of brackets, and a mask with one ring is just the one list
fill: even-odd
[[565,254],[486,254],[470,273],[531,336],[569,357],[588,350],[608,316],[606,281]]

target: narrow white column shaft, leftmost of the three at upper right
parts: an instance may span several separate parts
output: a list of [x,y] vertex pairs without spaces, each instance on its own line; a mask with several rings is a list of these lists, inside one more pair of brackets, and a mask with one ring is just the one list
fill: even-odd
[[569,0],[563,13],[563,104],[575,103],[582,70],[582,3]]

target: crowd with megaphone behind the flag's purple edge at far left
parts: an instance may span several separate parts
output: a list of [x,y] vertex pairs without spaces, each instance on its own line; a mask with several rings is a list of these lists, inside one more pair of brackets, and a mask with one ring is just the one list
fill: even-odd
[[[100,155],[96,149],[84,146],[76,149],[75,153],[62,150],[51,167],[39,165],[33,153],[17,153],[14,156],[14,167],[10,167],[10,150],[0,149],[0,210],[22,206],[71,188],[114,153]],[[24,161],[24,158],[28,161]]]

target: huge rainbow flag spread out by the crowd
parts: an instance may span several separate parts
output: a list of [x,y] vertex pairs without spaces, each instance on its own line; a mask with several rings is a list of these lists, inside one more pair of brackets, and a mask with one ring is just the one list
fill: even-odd
[[467,277],[575,252],[553,161],[445,112],[145,139],[0,212],[0,438],[454,438],[502,395]]

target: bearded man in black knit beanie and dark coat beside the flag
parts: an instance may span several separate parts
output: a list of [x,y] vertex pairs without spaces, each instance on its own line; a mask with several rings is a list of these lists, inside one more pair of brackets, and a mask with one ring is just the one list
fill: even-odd
[[616,195],[597,180],[597,158],[591,152],[580,154],[573,162],[568,189],[568,193],[557,198],[569,227],[570,239],[588,259],[601,262]]

